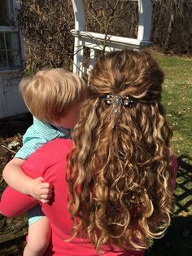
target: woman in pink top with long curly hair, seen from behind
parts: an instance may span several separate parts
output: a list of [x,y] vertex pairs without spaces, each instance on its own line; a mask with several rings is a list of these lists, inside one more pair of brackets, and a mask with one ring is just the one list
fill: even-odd
[[[44,255],[142,256],[150,237],[164,235],[177,162],[160,102],[163,82],[147,52],[103,55],[90,73],[72,140],[46,143],[25,162],[26,174],[54,186],[54,200],[41,205],[52,230]],[[15,195],[20,207],[3,208],[4,194],[0,210],[8,216],[37,204]]]

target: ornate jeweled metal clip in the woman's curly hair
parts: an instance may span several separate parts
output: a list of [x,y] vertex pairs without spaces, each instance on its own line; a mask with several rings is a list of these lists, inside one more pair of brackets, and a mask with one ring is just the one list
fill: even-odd
[[133,104],[133,100],[130,99],[128,95],[120,96],[120,95],[112,95],[108,94],[103,97],[103,99],[106,101],[107,104],[113,105],[115,109],[115,113],[118,112],[117,106],[123,105],[124,107],[130,107]]

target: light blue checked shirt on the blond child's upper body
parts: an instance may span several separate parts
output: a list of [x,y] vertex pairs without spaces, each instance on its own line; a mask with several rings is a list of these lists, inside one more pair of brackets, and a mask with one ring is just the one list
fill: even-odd
[[56,138],[69,139],[70,130],[55,127],[33,117],[33,125],[28,128],[23,137],[23,146],[15,157],[26,160],[33,152],[48,141]]

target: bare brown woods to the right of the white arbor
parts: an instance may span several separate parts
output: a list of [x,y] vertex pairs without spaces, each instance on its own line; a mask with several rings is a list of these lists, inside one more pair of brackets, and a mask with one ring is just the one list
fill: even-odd
[[191,53],[192,2],[153,0],[151,40],[165,52]]

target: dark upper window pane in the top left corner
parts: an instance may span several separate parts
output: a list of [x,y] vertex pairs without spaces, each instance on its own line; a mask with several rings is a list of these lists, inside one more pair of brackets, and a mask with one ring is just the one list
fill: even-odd
[[9,26],[12,24],[12,1],[0,0],[0,26]]

